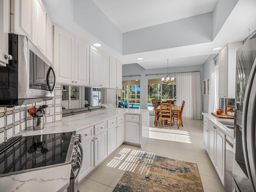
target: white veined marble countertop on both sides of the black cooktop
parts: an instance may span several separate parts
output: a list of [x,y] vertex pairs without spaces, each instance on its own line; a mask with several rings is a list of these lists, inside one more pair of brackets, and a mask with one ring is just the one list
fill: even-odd
[[[27,128],[20,135],[32,136],[79,131],[125,113],[142,114],[146,109],[108,108],[62,118],[62,121],[45,124],[42,130]],[[0,191],[4,192],[62,192],[68,188],[71,164],[55,166],[0,177]]]

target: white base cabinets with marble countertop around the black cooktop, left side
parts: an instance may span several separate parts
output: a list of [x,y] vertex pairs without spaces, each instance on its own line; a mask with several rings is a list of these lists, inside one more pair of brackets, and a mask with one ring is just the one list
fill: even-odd
[[[112,130],[115,137],[112,137]],[[84,157],[92,158],[92,164],[86,164],[87,161],[83,160],[82,171],[79,176],[79,180],[82,180],[122,142],[144,146],[149,138],[149,110],[108,108],[64,117],[60,122],[46,124],[42,130],[33,130],[31,127],[22,132],[21,135],[33,136],[72,131],[81,134],[82,146],[87,141],[92,142],[92,146],[94,146],[94,151],[84,151],[86,154]],[[104,136],[103,142],[99,141],[100,135]],[[104,153],[99,155],[102,151]],[[94,154],[90,156],[89,153]],[[2,190],[6,192],[15,190],[19,192],[29,190],[62,192],[68,187],[70,172],[71,164],[54,166],[0,177],[0,185]]]

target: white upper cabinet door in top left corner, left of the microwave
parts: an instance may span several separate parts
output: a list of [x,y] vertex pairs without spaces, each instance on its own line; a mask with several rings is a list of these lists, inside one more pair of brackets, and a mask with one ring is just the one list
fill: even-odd
[[10,26],[10,1],[0,1],[0,66],[6,66],[8,60],[8,32]]

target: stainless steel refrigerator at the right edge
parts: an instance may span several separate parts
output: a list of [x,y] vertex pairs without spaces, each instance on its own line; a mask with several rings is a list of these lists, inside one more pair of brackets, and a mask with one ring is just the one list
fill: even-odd
[[233,192],[256,192],[256,33],[236,52]]

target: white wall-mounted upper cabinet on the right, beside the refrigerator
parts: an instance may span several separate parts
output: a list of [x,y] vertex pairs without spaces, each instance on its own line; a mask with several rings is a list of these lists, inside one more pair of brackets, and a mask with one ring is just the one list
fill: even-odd
[[221,98],[235,98],[236,51],[242,42],[229,43],[219,53],[219,90]]

